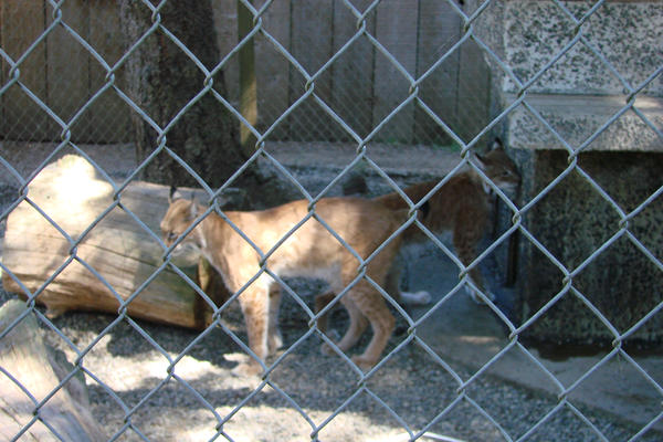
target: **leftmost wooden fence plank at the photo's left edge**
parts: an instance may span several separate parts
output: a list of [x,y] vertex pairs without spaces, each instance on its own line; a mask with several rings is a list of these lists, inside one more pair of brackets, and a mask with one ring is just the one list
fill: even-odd
[[[6,0],[2,8],[2,49],[15,62],[42,34],[45,23],[43,0]],[[46,101],[46,45],[39,44],[19,66],[20,81],[34,95]],[[4,94],[4,136],[14,140],[49,140],[49,117],[19,88]]]

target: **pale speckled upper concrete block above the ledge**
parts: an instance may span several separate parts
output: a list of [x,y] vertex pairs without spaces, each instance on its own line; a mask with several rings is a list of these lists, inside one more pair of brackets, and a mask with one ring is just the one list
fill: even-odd
[[[562,2],[567,13],[552,1],[497,0],[478,17],[475,33],[520,84],[532,82],[530,93],[623,94],[624,86],[639,87],[663,63],[663,2],[606,2],[580,27],[569,17],[580,21],[594,3]],[[486,59],[498,87],[518,93],[516,82]],[[643,93],[663,96],[663,78],[649,82]]]

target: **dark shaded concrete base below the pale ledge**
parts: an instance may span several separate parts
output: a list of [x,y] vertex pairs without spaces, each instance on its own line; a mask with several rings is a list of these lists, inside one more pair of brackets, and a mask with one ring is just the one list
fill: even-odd
[[[624,213],[640,207],[661,187],[660,154],[589,152],[579,157],[586,171]],[[532,156],[532,179],[523,189],[532,200],[568,167],[564,151],[540,150]],[[538,320],[525,336],[536,340],[575,344],[610,344],[614,336],[585,305],[581,294],[620,334],[633,327],[663,301],[663,271],[652,256],[663,260],[663,198],[650,202],[621,231],[621,217],[578,171],[570,172],[525,215],[529,232],[557,260],[554,263],[533,242],[520,241],[517,293],[519,322],[524,323],[554,296],[566,290],[562,265],[572,290]],[[601,250],[615,235],[619,239]],[[590,256],[601,250],[593,259]],[[573,274],[577,269],[581,269]],[[655,315],[631,339],[655,344],[663,338],[663,316]]]

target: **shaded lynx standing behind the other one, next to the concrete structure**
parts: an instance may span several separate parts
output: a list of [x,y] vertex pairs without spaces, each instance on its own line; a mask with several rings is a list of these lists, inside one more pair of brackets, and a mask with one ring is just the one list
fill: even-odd
[[[498,139],[485,156],[476,155],[475,159],[483,172],[497,187],[507,194],[515,192],[520,176]],[[418,203],[433,190],[438,182],[436,180],[421,182],[403,189],[403,192],[411,201]],[[474,169],[469,169],[451,177],[420,209],[420,221],[433,233],[452,232],[453,246],[464,265],[470,265],[477,256],[476,246],[486,232],[491,218],[491,187],[478,173]],[[376,197],[372,201],[390,210],[409,209],[408,203],[396,192]],[[417,225],[411,225],[403,232],[404,244],[423,242],[427,238]],[[480,270],[474,266],[469,273],[472,284],[493,301],[494,295],[485,290]],[[428,292],[401,293],[399,283],[400,270],[393,267],[387,276],[385,290],[397,301],[400,299],[403,304],[425,304],[430,301]],[[483,298],[469,285],[465,285],[465,290],[475,302],[483,302]],[[316,312],[324,308],[333,298],[333,293],[318,295],[315,301]],[[318,326],[326,332],[325,316],[318,319]]]

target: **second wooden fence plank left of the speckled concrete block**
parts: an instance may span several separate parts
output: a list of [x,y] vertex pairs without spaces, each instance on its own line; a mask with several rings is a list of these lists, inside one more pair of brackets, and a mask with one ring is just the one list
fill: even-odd
[[[461,21],[446,2],[420,0],[418,76],[423,75],[459,41]],[[455,51],[420,85],[419,96],[450,127],[456,128],[460,51]],[[414,139],[448,145],[444,130],[420,107],[415,108]]]

